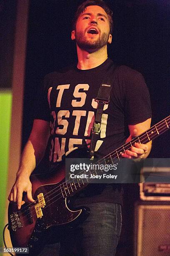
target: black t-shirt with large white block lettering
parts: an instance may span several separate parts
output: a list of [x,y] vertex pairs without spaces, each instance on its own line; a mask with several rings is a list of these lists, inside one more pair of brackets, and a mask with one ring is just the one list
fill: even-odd
[[[90,143],[90,131],[96,113],[95,97],[104,74],[114,65],[107,59],[88,70],[72,66],[47,74],[44,90],[38,97],[35,119],[50,122],[50,162],[57,163],[75,148]],[[100,138],[95,155],[99,158],[121,146],[128,125],[151,117],[150,96],[143,76],[129,67],[117,67],[113,75],[110,102],[104,106]],[[77,195],[79,200],[79,194]],[[122,203],[119,186],[90,184],[80,193],[81,202]]]

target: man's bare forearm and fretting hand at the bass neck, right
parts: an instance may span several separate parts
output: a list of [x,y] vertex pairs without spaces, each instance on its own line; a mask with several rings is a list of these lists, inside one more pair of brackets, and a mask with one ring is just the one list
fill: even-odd
[[[131,141],[136,136],[139,136],[141,133],[147,131],[150,128],[151,118],[145,120],[142,123],[135,125],[128,125],[130,136],[127,138],[126,142]],[[125,153],[122,153],[122,157],[135,159],[135,158],[146,158],[150,154],[152,146],[152,141],[146,144],[135,143],[130,150],[126,150]]]

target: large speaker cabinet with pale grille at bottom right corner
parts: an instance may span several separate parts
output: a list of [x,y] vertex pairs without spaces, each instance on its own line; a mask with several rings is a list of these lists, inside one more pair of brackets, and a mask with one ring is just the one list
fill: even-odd
[[170,256],[170,203],[135,204],[134,256]]

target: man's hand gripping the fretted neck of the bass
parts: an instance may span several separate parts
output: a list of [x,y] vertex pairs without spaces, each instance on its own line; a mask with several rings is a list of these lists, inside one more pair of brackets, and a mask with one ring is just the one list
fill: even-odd
[[[133,133],[128,137],[126,142],[131,141],[133,138],[138,136],[137,129],[133,130]],[[135,159],[135,158],[145,158],[148,155],[148,145],[135,143],[130,150],[126,150],[125,153],[122,153],[122,157]]]

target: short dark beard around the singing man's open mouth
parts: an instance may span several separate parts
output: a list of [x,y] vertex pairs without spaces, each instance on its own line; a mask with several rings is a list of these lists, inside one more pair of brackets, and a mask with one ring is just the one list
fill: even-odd
[[75,31],[75,41],[80,49],[83,50],[97,50],[101,49],[103,46],[107,45],[109,40],[109,35],[107,33],[102,33],[98,39],[87,40],[82,32]]

